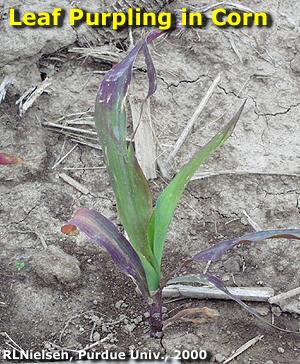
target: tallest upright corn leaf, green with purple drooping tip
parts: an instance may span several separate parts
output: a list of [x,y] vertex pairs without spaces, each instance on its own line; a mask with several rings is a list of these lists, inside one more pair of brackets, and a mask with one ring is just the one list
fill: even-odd
[[137,162],[132,145],[127,148],[125,99],[132,80],[133,64],[140,51],[145,54],[149,89],[156,90],[155,68],[147,45],[162,32],[152,31],[103,79],[96,99],[95,124],[117,200],[121,222],[134,248],[153,261],[147,226],[153,211],[152,195]]

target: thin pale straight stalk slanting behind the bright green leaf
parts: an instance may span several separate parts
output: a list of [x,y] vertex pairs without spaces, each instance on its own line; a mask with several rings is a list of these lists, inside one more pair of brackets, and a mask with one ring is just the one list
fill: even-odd
[[176,154],[178,153],[178,151],[181,148],[182,144],[185,142],[186,138],[190,134],[196,120],[198,119],[199,115],[201,114],[201,112],[205,108],[207,102],[209,101],[210,97],[212,96],[212,94],[214,92],[214,89],[217,87],[217,85],[219,84],[220,81],[221,81],[221,73],[219,73],[217,75],[217,77],[214,79],[214,81],[211,84],[210,88],[208,89],[207,93],[205,94],[205,96],[201,100],[200,104],[198,105],[197,109],[195,110],[193,116],[191,117],[191,119],[189,120],[189,122],[187,123],[185,128],[183,129],[180,137],[178,138],[177,142],[174,145],[173,150],[171,151],[171,153],[167,157],[167,160],[166,160],[166,165],[167,166],[172,164]]

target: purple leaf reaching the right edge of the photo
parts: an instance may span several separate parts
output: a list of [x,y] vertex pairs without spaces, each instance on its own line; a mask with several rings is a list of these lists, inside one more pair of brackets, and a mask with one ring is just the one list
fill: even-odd
[[257,243],[261,240],[266,239],[297,239],[300,240],[300,229],[283,229],[283,230],[266,230],[258,231],[255,233],[246,234],[240,238],[232,240],[223,240],[216,245],[203,250],[202,252],[196,254],[193,260],[196,261],[216,261],[228,250],[232,249],[240,243]]

